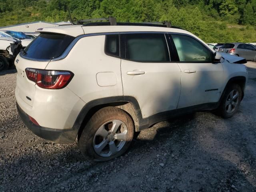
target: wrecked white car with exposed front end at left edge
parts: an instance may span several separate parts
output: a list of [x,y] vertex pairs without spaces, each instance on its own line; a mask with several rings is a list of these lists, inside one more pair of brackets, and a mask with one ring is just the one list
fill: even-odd
[[21,41],[11,36],[0,34],[0,71],[7,70],[13,66],[14,59],[22,48]]

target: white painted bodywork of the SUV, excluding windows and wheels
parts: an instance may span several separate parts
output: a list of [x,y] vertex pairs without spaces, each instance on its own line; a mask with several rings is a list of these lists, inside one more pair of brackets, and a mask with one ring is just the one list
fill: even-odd
[[[20,53],[15,62],[18,109],[36,120],[39,128],[36,130],[31,121],[24,122],[35,134],[54,142],[73,142],[83,118],[97,104],[125,102],[119,107],[134,118],[135,130],[139,131],[164,120],[165,112],[181,114],[192,106],[197,110],[213,109],[230,80],[242,78],[244,90],[247,79],[246,66],[235,63],[241,60],[239,57],[232,58],[234,63],[225,56],[216,63],[135,62],[109,56],[104,51],[106,35],[129,32],[186,35],[209,49],[195,35],[177,28],[76,25],[43,28],[38,32],[75,38],[58,58],[36,60]],[[66,87],[49,90],[29,80],[27,68],[64,70],[74,77]],[[133,106],[132,110],[127,109],[127,103]],[[44,131],[56,135],[49,136]]]

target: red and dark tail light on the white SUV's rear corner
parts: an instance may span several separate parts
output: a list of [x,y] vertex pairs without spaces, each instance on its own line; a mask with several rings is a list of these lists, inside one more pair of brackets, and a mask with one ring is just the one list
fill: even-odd
[[45,89],[61,89],[68,85],[74,74],[70,71],[26,68],[27,78]]

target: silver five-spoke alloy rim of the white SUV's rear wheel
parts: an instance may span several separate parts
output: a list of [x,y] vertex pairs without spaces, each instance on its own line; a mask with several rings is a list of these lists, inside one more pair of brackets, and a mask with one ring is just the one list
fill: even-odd
[[96,154],[109,157],[117,154],[126,143],[128,130],[121,120],[110,120],[98,128],[94,139],[93,148]]

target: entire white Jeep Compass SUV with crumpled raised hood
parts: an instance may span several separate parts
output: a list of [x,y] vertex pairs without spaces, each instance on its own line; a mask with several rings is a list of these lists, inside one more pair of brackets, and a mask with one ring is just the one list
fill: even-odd
[[167,23],[110,18],[38,32],[15,63],[19,114],[46,140],[78,138],[96,161],[122,155],[140,130],[181,114],[217,109],[229,118],[244,97],[243,58]]

